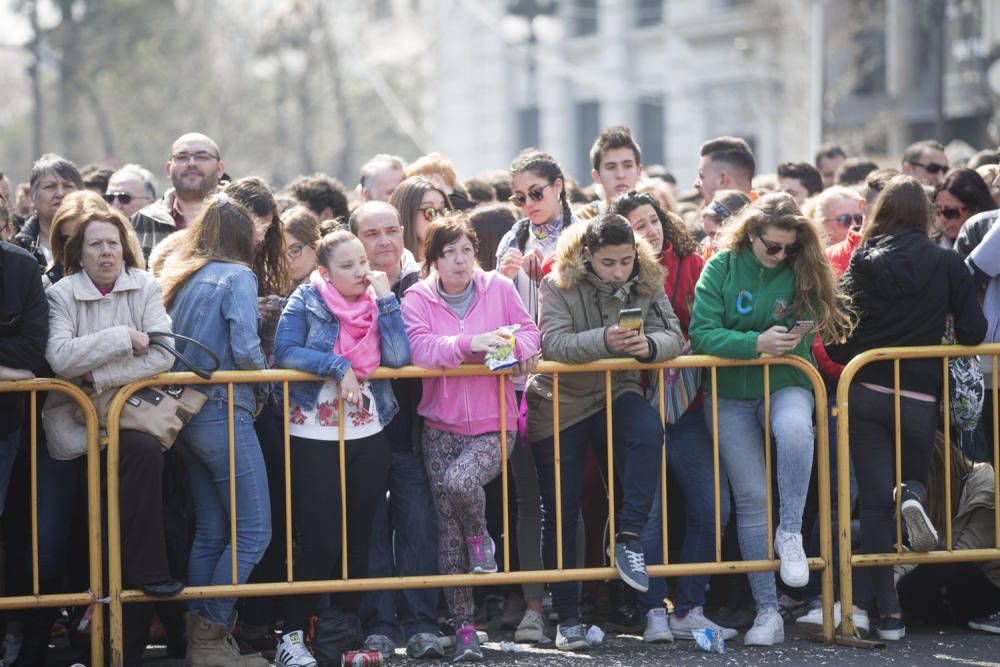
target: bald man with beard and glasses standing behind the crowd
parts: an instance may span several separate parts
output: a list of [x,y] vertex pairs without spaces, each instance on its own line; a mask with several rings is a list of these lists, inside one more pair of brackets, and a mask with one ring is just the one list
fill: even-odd
[[205,197],[219,187],[223,169],[218,145],[204,134],[191,132],[174,142],[167,162],[167,175],[174,187],[132,216],[147,259],[156,244],[198,217]]

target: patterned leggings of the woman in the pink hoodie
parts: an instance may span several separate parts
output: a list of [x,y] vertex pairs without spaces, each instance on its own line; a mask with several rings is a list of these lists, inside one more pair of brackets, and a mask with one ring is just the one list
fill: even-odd
[[[507,432],[507,455],[517,434]],[[469,572],[468,535],[486,532],[483,487],[500,474],[500,432],[458,435],[424,427],[424,463],[438,513],[438,568],[441,574]],[[455,627],[473,620],[472,588],[444,589]]]

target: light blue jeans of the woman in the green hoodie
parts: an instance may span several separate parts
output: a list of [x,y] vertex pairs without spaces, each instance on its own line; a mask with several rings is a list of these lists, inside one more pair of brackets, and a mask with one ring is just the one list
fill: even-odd
[[[780,527],[788,533],[802,532],[802,510],[812,472],[812,392],[785,387],[771,394],[772,441],[777,451]],[[711,428],[712,401],[705,400],[705,420]],[[719,457],[726,469],[736,500],[736,527],[745,560],[766,560],[767,486],[764,467],[764,399],[719,399]],[[757,610],[778,608],[772,572],[751,572],[750,590]]]

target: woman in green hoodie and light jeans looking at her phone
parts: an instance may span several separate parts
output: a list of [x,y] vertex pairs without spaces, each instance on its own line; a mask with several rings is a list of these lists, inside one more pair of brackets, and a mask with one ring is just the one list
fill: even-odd
[[[849,324],[816,228],[790,195],[773,193],[749,204],[726,226],[695,290],[689,333],[695,354],[730,359],[792,354],[812,362],[809,348],[817,330],[833,337]],[[781,500],[774,551],[781,559],[781,579],[792,587],[804,586],[809,568],[802,549],[802,511],[813,460],[812,385],[788,366],[770,369],[770,397],[764,396],[763,368],[720,368],[717,378],[719,456],[736,500],[743,558],[768,557],[770,480],[763,429],[771,428]],[[764,422],[766,399],[770,424]],[[706,387],[710,428],[712,411]],[[748,577],[757,617],[744,644],[783,642],[774,576],[753,572]]]

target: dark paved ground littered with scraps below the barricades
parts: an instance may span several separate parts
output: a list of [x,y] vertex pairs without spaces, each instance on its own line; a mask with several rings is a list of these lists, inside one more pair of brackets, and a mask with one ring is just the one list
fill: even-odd
[[[786,625],[787,639],[773,648],[744,648],[739,639],[726,646],[725,655],[711,655],[695,648],[692,642],[658,646],[643,644],[641,637],[609,636],[605,642],[586,653],[565,654],[554,648],[528,647],[524,652],[501,651],[500,644],[485,645],[486,661],[492,664],[517,664],[524,667],[569,667],[592,665],[605,667],[660,667],[662,665],[937,665],[955,667],[973,665],[1000,667],[1000,636],[964,631],[959,628],[934,630],[907,628],[907,637],[890,643],[885,649],[866,650],[816,643],[798,635]],[[441,665],[446,661],[408,660],[397,650],[390,664],[399,667]],[[447,662],[450,662],[450,657]],[[183,660],[150,656],[144,662],[151,667],[182,667]]]

